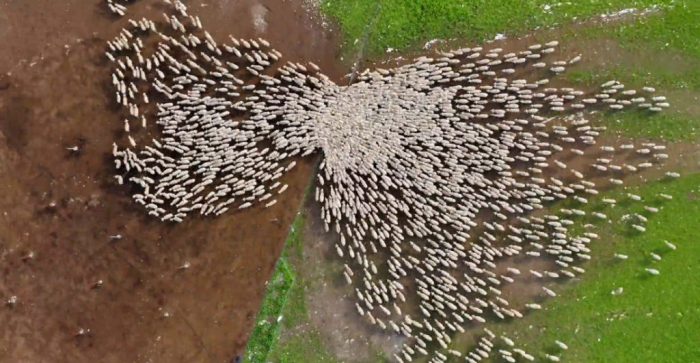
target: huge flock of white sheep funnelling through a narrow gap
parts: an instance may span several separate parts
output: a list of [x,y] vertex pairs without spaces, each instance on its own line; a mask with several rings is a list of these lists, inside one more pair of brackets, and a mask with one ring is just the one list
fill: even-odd
[[[669,104],[617,81],[552,87],[581,59],[551,59],[557,41],[440,52],[338,85],[313,63],[283,62],[263,39],[218,42],[183,3],[165,2],[161,19],[129,20],[107,44],[124,130],[116,182],[146,213],[179,223],[271,207],[285,174],[320,153],[320,217],[337,236],[358,314],[406,338],[398,362],[535,359],[484,328],[541,307],[511,305],[504,291],[534,276],[542,297],[556,296],[545,280],[584,273],[598,237],[570,231],[580,208],[668,158],[656,143],[600,145],[592,111]],[[547,209],[565,200],[569,208]],[[629,218],[644,231],[644,217]],[[549,267],[518,268],[530,259]],[[467,330],[477,332],[473,349],[450,349]]]

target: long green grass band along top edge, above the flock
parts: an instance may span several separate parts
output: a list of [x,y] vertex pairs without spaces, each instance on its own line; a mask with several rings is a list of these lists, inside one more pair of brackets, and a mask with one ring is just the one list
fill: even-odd
[[[356,51],[376,0],[325,0],[323,10],[335,18],[345,35],[346,49]],[[552,5],[550,0],[382,0],[376,26],[370,29],[369,55],[388,48],[419,48],[431,39],[480,41],[497,33],[509,34],[588,18],[630,7],[669,5],[671,0],[579,0]]]

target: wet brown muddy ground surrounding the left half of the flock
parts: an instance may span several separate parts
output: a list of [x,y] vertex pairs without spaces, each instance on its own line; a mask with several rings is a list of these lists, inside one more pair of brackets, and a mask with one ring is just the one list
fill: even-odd
[[[188,5],[217,39],[266,38],[338,80],[336,33],[304,3]],[[136,208],[111,177],[121,124],[104,44],[127,18],[159,17],[155,4],[137,1],[120,19],[101,0],[0,1],[0,362],[242,354],[312,160],[269,209],[169,225]]]

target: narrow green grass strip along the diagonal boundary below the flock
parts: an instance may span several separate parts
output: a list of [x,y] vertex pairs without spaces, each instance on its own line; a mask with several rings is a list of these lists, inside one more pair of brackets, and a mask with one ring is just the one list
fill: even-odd
[[288,300],[290,296],[293,296],[296,286],[296,272],[288,262],[288,254],[290,250],[295,250],[298,248],[297,246],[301,245],[303,226],[304,218],[299,215],[292,224],[285,249],[277,261],[272,279],[267,285],[265,298],[256,318],[255,328],[246,347],[246,362],[265,362],[279,339],[281,329],[279,317],[282,317],[282,321],[284,321],[284,312],[288,311]]

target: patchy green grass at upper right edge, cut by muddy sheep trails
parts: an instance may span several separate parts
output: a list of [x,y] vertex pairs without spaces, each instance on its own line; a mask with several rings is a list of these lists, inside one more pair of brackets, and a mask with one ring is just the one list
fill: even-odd
[[685,100],[669,97],[677,112],[648,116],[626,111],[608,114],[605,120],[612,129],[630,137],[696,141],[700,138],[700,115],[689,109],[696,106],[692,100],[700,96],[698,19],[700,1],[681,1],[660,15],[571,34],[587,39],[616,39],[631,56],[607,68],[569,72],[567,77],[586,86],[618,79],[630,87],[655,87],[660,94],[685,94]]

